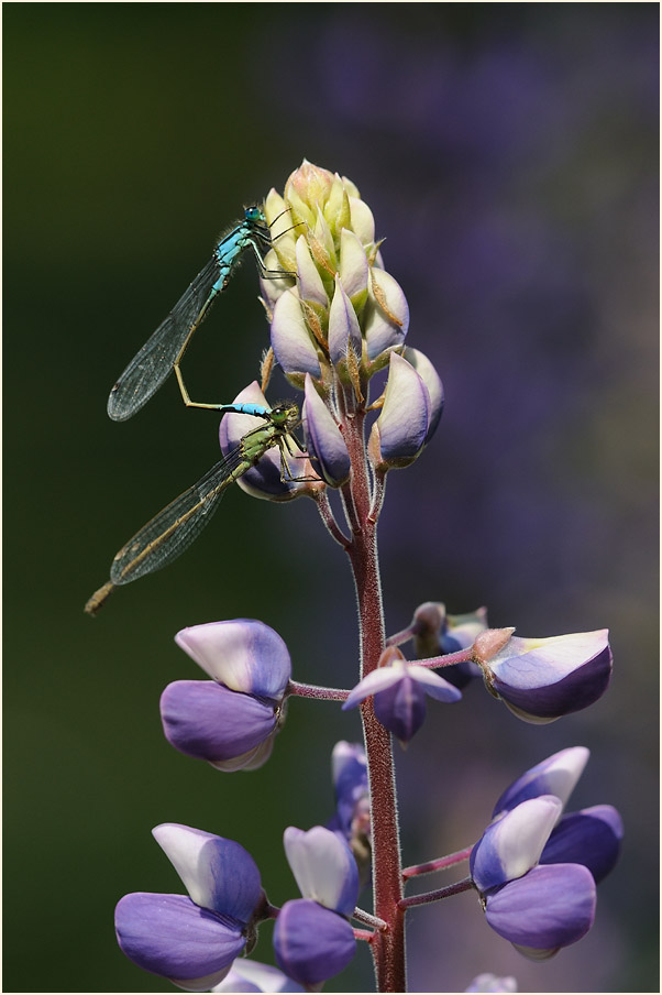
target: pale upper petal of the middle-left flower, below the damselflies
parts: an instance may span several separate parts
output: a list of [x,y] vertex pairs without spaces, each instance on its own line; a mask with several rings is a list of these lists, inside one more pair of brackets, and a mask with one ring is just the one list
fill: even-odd
[[232,691],[279,701],[291,675],[287,646],[275,630],[254,619],[207,622],[180,630],[177,645]]

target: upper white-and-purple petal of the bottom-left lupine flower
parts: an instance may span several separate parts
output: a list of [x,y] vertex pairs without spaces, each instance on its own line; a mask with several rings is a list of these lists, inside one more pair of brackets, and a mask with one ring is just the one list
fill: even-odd
[[250,921],[262,896],[260,871],[234,840],[177,822],[152,830],[196,905],[240,925]]

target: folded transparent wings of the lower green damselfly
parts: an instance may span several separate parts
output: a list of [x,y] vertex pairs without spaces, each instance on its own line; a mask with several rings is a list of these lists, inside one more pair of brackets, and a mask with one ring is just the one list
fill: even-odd
[[172,501],[117,554],[110,568],[112,583],[130,583],[176,559],[202,532],[228,486],[249,467],[236,448]]

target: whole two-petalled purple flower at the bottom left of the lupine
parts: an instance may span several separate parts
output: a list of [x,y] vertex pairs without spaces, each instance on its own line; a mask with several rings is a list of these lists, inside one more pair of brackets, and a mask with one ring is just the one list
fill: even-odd
[[264,903],[260,872],[233,840],[176,823],[153,834],[190,897],[124,895],[115,908],[118,943],[139,967],[189,992],[209,991],[246,945]]

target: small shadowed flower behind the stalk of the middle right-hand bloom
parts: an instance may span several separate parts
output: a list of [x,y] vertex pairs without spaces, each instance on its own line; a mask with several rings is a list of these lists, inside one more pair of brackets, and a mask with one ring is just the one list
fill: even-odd
[[[487,609],[463,615],[448,615],[442,601],[426,601],[420,604],[411,623],[413,645],[418,659],[456,653],[473,646],[476,636],[487,628]],[[481,668],[473,660],[453,664],[443,668],[444,679],[462,689],[474,677],[481,676]]]

